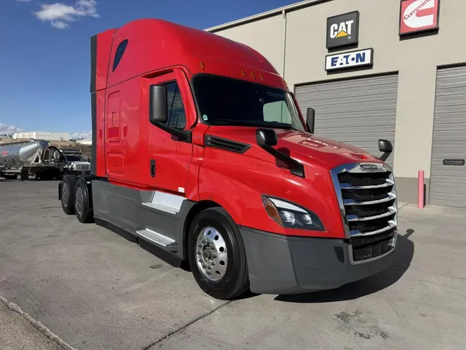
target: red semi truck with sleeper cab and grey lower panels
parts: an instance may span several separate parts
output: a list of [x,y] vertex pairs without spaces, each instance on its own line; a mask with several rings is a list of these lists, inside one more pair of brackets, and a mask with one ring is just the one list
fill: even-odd
[[[217,299],[338,288],[392,264],[394,174],[313,134],[257,51],[139,19],[95,35],[90,175],[59,184],[64,212],[189,264]],[[375,142],[375,141],[374,141]]]

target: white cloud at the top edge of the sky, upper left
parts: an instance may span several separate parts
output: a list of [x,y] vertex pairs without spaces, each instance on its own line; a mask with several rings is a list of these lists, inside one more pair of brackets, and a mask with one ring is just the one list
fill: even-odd
[[34,12],[34,15],[41,21],[50,22],[50,25],[57,29],[66,29],[70,22],[82,17],[99,17],[96,0],[78,0],[73,6],[64,3],[43,3],[41,10]]

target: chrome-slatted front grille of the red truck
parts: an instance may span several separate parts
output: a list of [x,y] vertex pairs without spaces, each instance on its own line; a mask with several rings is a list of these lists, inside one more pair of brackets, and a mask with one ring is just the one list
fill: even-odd
[[353,163],[333,169],[331,175],[353,264],[394,250],[398,209],[391,168],[380,163]]

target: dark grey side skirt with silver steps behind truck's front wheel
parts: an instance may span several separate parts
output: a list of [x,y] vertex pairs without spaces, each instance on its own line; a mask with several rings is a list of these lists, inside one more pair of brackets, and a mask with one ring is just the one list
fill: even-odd
[[[169,264],[184,259],[184,224],[195,202],[183,196],[153,190],[137,190],[91,181],[94,219],[134,236],[142,248]],[[112,229],[113,230],[113,229]],[[117,232],[118,233],[118,232]],[[127,234],[121,234],[128,239]],[[172,255],[177,259],[173,261]]]

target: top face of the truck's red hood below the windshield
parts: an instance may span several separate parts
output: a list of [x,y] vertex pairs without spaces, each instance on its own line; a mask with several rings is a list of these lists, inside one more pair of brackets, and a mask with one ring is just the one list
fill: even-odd
[[[218,136],[259,147],[255,141],[255,131],[257,129],[257,127],[222,126],[210,127],[206,133],[211,136]],[[344,163],[383,163],[367,151],[343,142],[301,131],[282,129],[275,129],[275,131],[278,135],[278,145],[274,148],[281,149],[284,153],[300,160],[302,163],[323,163],[329,168],[337,167]],[[248,153],[246,152],[245,155]]]

